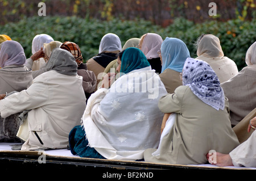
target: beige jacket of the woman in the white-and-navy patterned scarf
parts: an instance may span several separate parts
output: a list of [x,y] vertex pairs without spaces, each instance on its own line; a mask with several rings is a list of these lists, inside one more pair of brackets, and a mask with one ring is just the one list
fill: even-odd
[[227,99],[224,111],[217,111],[197,98],[189,86],[180,86],[174,94],[163,96],[158,106],[164,113],[176,112],[177,119],[163,137],[160,155],[152,156],[155,149],[144,151],[146,162],[204,164],[208,151],[229,153],[239,145],[230,126]]

